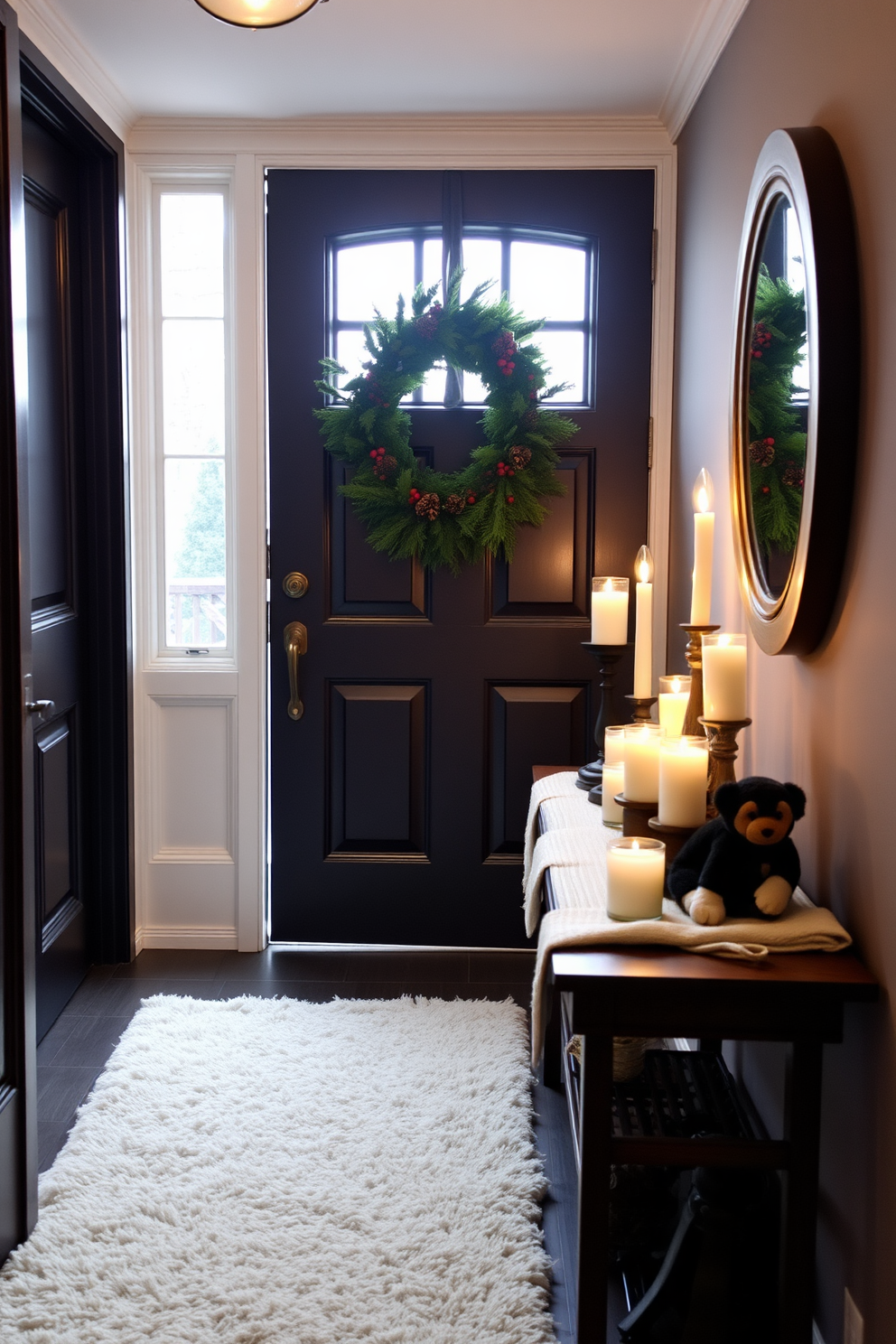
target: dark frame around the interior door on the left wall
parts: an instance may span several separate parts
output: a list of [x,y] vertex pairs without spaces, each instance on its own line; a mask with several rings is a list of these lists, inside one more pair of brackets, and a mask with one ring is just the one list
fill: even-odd
[[67,148],[89,173],[82,251],[83,448],[81,464],[90,566],[79,577],[83,638],[81,702],[82,857],[89,891],[87,942],[97,962],[133,956],[133,718],[130,687],[130,540],[125,415],[125,146],[102,118],[20,38],[21,108]]

